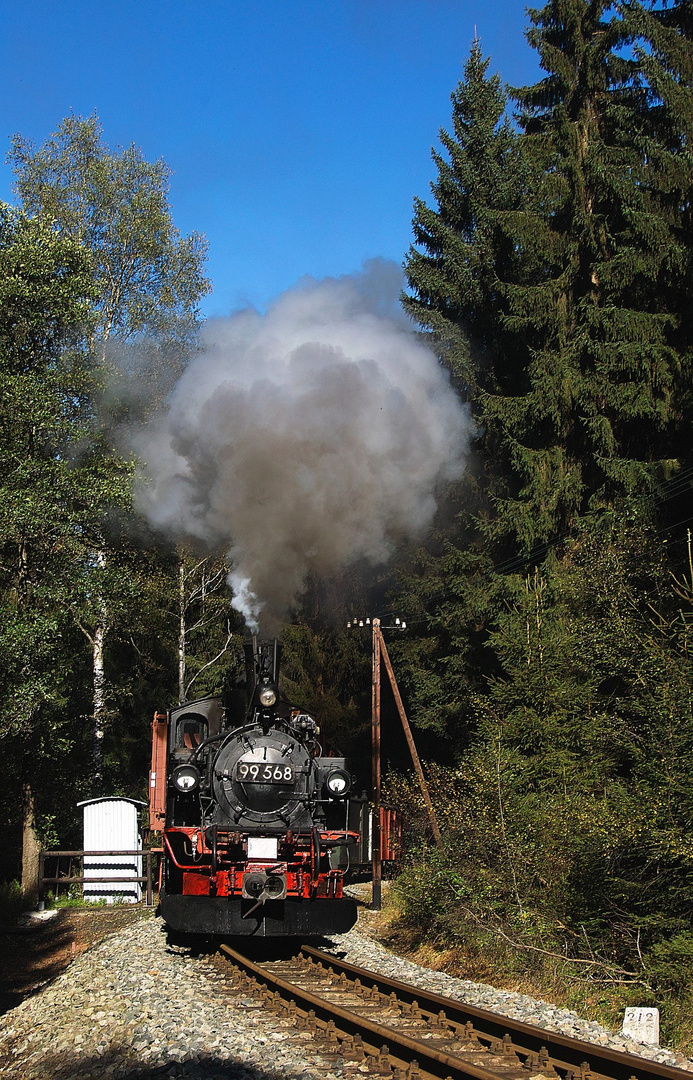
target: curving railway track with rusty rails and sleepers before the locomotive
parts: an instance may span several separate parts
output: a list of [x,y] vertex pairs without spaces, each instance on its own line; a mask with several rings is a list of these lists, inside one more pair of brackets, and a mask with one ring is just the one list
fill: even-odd
[[394,1080],[683,1080],[660,1065],[466,1005],[303,946],[257,963],[228,945],[264,1005],[308,1028],[345,1077]]

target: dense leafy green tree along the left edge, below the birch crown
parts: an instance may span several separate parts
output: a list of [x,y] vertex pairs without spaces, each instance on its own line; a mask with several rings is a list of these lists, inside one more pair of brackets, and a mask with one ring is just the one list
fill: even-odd
[[[95,373],[84,349],[89,254],[45,221],[0,211],[0,739],[3,809],[30,780],[79,786],[83,666],[70,606],[113,474],[93,453]],[[77,757],[74,752],[77,751]],[[69,765],[68,765],[69,762]]]

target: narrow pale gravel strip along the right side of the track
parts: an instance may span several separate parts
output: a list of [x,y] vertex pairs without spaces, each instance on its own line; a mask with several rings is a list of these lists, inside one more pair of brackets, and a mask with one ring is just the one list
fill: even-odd
[[[352,892],[357,899],[362,896],[362,890],[358,888],[352,891],[348,887],[345,891]],[[326,951],[335,951],[350,963],[370,968],[382,975],[398,978],[403,983],[411,983],[434,994],[443,994],[457,1001],[477,1005],[479,1009],[488,1009],[490,1012],[501,1013],[503,1016],[512,1016],[525,1024],[534,1024],[547,1031],[558,1031],[573,1039],[584,1039],[586,1042],[596,1042],[602,1047],[626,1051],[629,1054],[637,1054],[664,1065],[672,1065],[675,1068],[693,1071],[693,1058],[683,1057],[676,1051],[667,1050],[664,1047],[651,1047],[647,1043],[636,1042],[616,1031],[609,1031],[596,1021],[582,1020],[578,1013],[570,1009],[561,1009],[527,994],[498,990],[487,983],[473,983],[468,978],[454,978],[452,975],[446,975],[445,972],[432,971],[431,968],[405,960],[373,941],[358,928],[358,924],[348,934],[335,934],[332,942],[331,949],[327,948]]]

